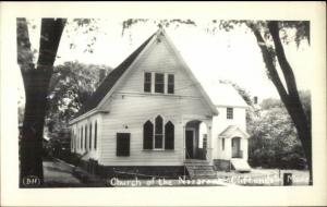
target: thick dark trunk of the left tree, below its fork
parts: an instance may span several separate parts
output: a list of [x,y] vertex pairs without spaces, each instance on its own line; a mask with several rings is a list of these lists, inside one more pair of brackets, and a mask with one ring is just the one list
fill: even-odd
[[23,179],[31,175],[44,181],[43,136],[46,114],[47,90],[51,77],[49,70],[28,70],[24,72],[25,113],[21,139],[21,186]]

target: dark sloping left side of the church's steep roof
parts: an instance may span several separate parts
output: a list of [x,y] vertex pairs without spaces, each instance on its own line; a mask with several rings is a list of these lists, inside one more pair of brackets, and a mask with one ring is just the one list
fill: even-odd
[[[155,33],[156,34],[156,33]],[[105,96],[111,90],[118,80],[124,74],[129,66],[138,57],[142,50],[154,37],[153,34],[148,39],[146,39],[133,53],[131,53],[120,65],[118,65],[113,71],[111,71],[108,76],[101,82],[100,86],[92,94],[92,96],[82,106],[80,111],[75,114],[74,119],[96,108],[99,102],[105,98]]]

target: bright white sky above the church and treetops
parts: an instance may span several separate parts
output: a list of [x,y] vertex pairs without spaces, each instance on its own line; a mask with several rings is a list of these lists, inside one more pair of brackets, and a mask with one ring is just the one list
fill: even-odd
[[[254,35],[245,27],[230,32],[205,32],[209,21],[195,20],[197,26],[171,25],[166,27],[186,64],[195,74],[204,88],[215,87],[219,80],[229,80],[245,88],[259,100],[278,98],[278,93],[266,75],[265,64]],[[37,50],[39,41],[39,20],[31,20],[29,38],[32,47]],[[97,21],[98,31],[83,34],[84,29],[74,31],[72,24],[65,26],[58,58],[55,65],[65,61],[106,64],[116,68],[132,53],[145,39],[158,29],[157,24],[135,24],[122,35],[122,20]],[[291,32],[290,32],[291,33]],[[292,35],[292,34],[290,34]],[[85,52],[87,44],[96,37],[93,53]],[[74,44],[75,48],[70,45]],[[287,58],[293,66],[300,89],[310,89],[310,47],[303,42],[300,48],[295,44],[284,46]],[[306,60],[306,61],[302,61]]]

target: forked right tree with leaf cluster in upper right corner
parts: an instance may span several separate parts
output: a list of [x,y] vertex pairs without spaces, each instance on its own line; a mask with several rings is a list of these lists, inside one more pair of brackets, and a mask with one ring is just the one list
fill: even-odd
[[[295,75],[293,69],[287,60],[282,41],[280,38],[280,29],[286,27],[295,27],[295,41],[298,45],[300,44],[302,38],[306,38],[310,42],[310,28],[308,22],[277,22],[277,21],[267,21],[262,24],[254,24],[252,22],[247,23],[250,28],[252,29],[257,45],[261,48],[263,53],[263,59],[265,65],[268,70],[268,75],[274,83],[275,87],[278,90],[278,94],[290,114],[295,129],[298,131],[298,137],[302,143],[302,147],[306,157],[308,170],[310,170],[310,184],[313,183],[313,174],[312,174],[312,133],[311,133],[311,123],[310,119],[305,114],[303,110],[302,101],[299,96],[299,90],[296,86]],[[267,27],[268,31],[265,32],[264,39],[261,27]],[[269,46],[267,44],[267,39],[271,39],[274,46]],[[281,76],[278,73],[276,61],[282,71]],[[286,86],[282,84],[284,80]]]

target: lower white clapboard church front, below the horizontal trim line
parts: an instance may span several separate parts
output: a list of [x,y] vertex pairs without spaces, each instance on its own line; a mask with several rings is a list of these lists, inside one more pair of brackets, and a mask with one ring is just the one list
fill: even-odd
[[[109,114],[102,122],[101,163],[106,166],[180,166],[183,163],[182,114],[206,114],[207,108],[201,99],[166,96],[126,96],[118,94],[109,106]],[[147,120],[154,123],[160,114],[164,123],[174,124],[174,150],[143,150],[143,124]],[[128,129],[125,129],[128,127]],[[130,157],[116,156],[116,134],[131,133]]]

